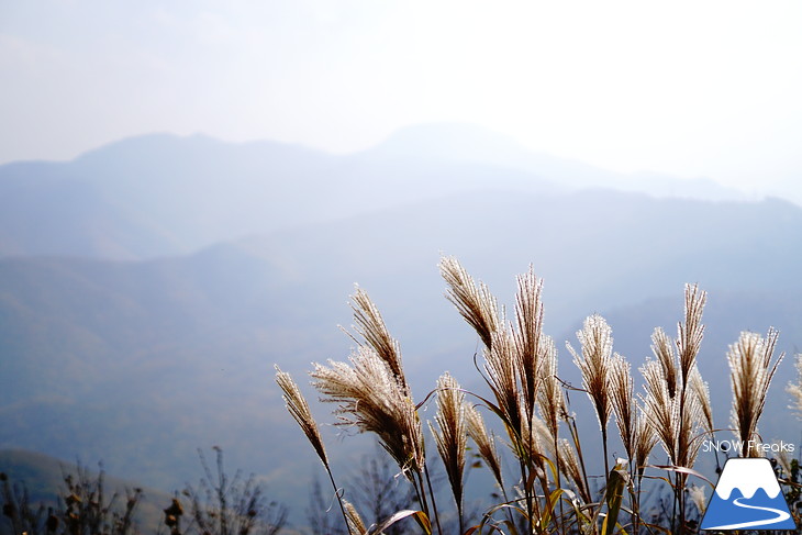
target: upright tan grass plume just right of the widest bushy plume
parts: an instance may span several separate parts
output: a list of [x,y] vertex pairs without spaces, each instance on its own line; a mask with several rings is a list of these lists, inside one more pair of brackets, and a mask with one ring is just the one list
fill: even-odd
[[448,372],[443,374],[437,380],[437,413],[434,416],[439,431],[431,424],[430,427],[446,468],[460,520],[465,450],[468,446],[465,411],[465,393],[460,390],[459,383]]

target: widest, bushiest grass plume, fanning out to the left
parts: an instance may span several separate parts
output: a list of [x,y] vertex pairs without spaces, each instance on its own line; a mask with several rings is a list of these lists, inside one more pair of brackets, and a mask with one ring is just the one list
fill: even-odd
[[[315,365],[310,375],[323,401],[338,403],[339,425],[375,433],[404,473],[421,472],[424,445],[415,404],[372,347],[360,346],[346,363]],[[408,473],[409,476],[409,473]]]

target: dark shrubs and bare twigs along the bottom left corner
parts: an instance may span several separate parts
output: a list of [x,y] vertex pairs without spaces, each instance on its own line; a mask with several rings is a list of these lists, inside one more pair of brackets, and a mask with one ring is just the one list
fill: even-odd
[[[212,469],[199,450],[203,477],[172,498],[159,497],[159,516],[141,488],[110,489],[101,467],[63,469],[63,486],[55,501],[36,503],[24,482],[0,473],[2,520],[0,533],[13,535],[277,535],[286,525],[287,508],[269,502],[253,477],[225,472],[223,452],[215,448]],[[142,514],[142,506],[151,511]]]

